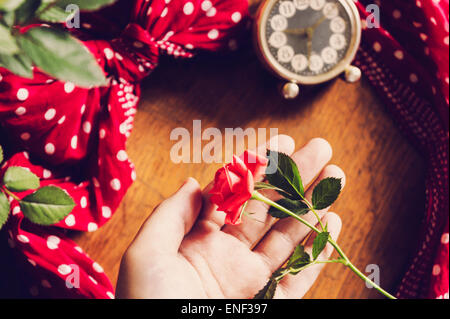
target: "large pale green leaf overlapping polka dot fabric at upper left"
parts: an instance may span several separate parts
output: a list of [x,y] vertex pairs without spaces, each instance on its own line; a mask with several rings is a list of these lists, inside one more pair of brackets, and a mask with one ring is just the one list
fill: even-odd
[[18,42],[36,66],[61,81],[86,88],[106,84],[94,56],[68,32],[32,28]]

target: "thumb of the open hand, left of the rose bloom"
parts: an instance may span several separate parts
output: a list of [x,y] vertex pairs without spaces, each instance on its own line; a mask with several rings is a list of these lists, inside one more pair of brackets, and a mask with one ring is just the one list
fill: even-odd
[[177,253],[202,207],[198,182],[189,178],[163,201],[142,225],[130,249],[139,253]]

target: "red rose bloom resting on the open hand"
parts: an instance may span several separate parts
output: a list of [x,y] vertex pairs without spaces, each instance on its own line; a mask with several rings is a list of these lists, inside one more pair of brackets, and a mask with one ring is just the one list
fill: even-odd
[[252,197],[254,181],[264,174],[267,162],[267,158],[245,151],[216,172],[210,200],[227,214],[226,224],[240,223],[242,205]]

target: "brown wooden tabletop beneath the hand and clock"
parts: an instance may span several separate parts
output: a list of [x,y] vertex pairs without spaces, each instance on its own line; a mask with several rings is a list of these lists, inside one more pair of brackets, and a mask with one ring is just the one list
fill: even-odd
[[[424,211],[424,161],[397,130],[369,84],[337,79],[308,96],[283,101],[277,80],[251,52],[233,58],[164,61],[143,84],[134,132],[128,143],[138,179],[112,220],[76,241],[116,282],[121,256],[139,227],[189,176],[205,186],[219,164],[174,164],[170,132],[202,120],[203,129],[278,128],[300,147],[327,139],[332,163],[347,185],[332,208],[343,219],[339,239],[364,270],[378,264],[381,285],[393,290],[405,272]],[[203,145],[205,145],[204,143]],[[242,150],[237,150],[238,152]],[[352,272],[328,265],[307,298],[377,298]]]

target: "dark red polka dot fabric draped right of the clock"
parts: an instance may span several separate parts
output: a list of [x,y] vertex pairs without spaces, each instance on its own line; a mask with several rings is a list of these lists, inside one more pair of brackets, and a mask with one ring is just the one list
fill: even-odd
[[[373,3],[380,9],[379,28],[370,28],[366,8]],[[397,296],[448,299],[449,1],[356,4],[363,25],[356,64],[428,163],[419,244]]]

